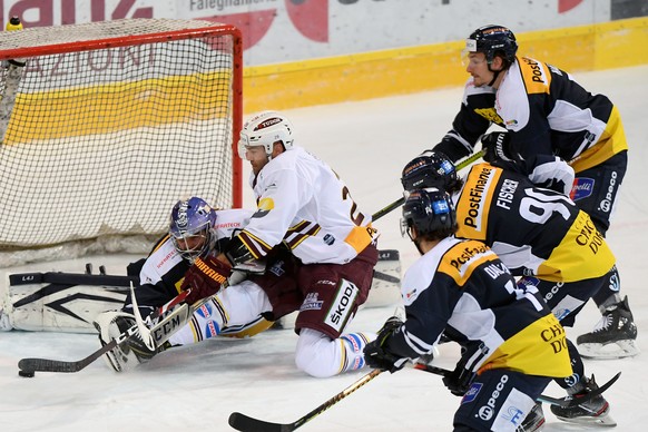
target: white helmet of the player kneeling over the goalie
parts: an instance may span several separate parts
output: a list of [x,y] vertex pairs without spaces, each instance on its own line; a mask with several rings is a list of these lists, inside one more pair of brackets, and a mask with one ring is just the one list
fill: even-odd
[[286,150],[293,148],[293,125],[277,111],[258,112],[243,125],[238,155],[245,159],[247,147],[263,146],[268,159],[272,159],[273,146],[276,141],[282,141]]

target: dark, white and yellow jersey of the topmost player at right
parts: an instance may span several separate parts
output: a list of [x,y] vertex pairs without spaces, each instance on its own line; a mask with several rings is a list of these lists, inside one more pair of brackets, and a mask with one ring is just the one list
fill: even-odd
[[518,57],[500,87],[465,85],[452,130],[433,148],[452,160],[472,153],[491,124],[504,127],[511,148],[523,158],[554,155],[580,173],[627,150],[617,108],[605,95],[592,95],[568,72]]

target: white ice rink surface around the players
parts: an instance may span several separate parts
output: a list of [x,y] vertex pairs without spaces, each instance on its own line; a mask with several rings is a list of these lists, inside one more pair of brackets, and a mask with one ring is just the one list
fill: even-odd
[[[461,71],[458,71],[461,73]],[[606,393],[618,431],[645,431],[648,424],[648,293],[644,289],[648,240],[648,66],[575,75],[590,91],[606,94],[618,106],[630,146],[629,170],[608,233],[645,352],[634,359],[586,361],[588,373],[605,382],[620,380]],[[403,97],[286,111],[297,143],[326,160],[346,181],[363,212],[376,212],[401,195],[403,165],[448,131],[459,109],[462,88]],[[267,107],[272,109],[273,107]],[[246,190],[245,203],[253,202]],[[400,236],[400,210],[376,220],[380,248],[401,251],[406,268],[418,256]],[[648,244],[648,242],[647,242]],[[137,256],[101,256],[43,264],[38,271],[81,273],[84,264],[104,264],[108,274],[125,274]],[[33,267],[32,267],[33,268]],[[23,271],[23,269],[16,269]],[[642,273],[644,272],[644,273]],[[351,330],[376,331],[393,307],[364,308]],[[592,303],[568,335],[589,332],[600,314]],[[313,379],[293,361],[296,335],[267,331],[251,340],[210,340],[171,350],[122,374],[101,360],[75,374],[18,376],[22,357],[79,360],[99,347],[96,335],[0,333],[0,430],[13,431],[227,431],[233,411],[289,423],[344,390],[369,371]],[[441,346],[438,364],[453,367],[456,352]],[[562,396],[551,384],[544,392]],[[459,399],[436,375],[414,370],[384,373],[328,411],[304,431],[449,431]],[[544,431],[585,431],[568,425],[544,406]],[[597,429],[597,428],[589,428]]]

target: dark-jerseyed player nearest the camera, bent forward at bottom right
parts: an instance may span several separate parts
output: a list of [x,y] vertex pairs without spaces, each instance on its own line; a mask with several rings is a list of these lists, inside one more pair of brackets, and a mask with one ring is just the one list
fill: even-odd
[[444,190],[412,190],[402,224],[421,254],[403,278],[406,321],[387,320],[365,347],[367,364],[396,372],[444,334],[462,348],[443,379],[463,396],[453,430],[518,430],[551,380],[572,373],[564,330],[485,244],[454,238],[456,215]]

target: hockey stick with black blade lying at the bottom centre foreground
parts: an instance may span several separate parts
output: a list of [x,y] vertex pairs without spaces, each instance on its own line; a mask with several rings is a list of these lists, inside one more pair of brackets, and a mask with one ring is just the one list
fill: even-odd
[[237,431],[264,431],[264,432],[289,432],[297,428],[303,426],[306,422],[313,420],[317,415],[322,414],[324,411],[328,410],[331,406],[335,405],[337,402],[342,401],[344,397],[348,396],[351,393],[355,392],[357,389],[362,387],[364,384],[381,374],[380,369],[374,369],[342,392],[337,393],[335,396],[331,397],[315,410],[311,411],[308,414],[302,416],[301,419],[292,423],[273,423],[266,422],[264,420],[254,419],[242,414],[239,412],[233,412],[229,415],[228,423],[232,428]]

